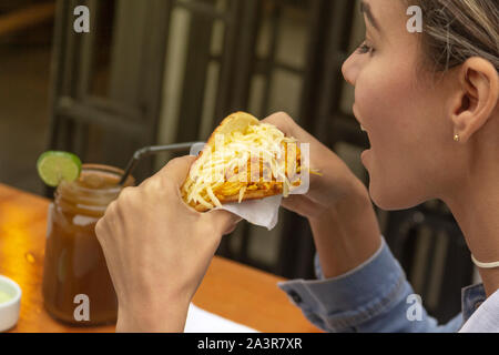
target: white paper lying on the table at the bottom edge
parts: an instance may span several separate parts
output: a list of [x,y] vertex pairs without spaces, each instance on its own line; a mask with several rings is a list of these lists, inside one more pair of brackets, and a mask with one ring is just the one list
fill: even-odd
[[191,303],[184,333],[258,333],[245,325],[201,310]]

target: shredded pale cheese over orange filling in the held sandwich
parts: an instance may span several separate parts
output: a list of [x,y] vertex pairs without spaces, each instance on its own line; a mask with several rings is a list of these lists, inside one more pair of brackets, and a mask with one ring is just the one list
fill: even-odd
[[[203,151],[191,169],[183,186],[187,203],[198,203],[211,210],[222,205],[222,196],[237,195],[241,203],[246,191],[258,190],[255,184],[269,182],[268,179],[282,183],[283,195],[287,196],[292,183],[285,169],[289,145],[286,143],[296,143],[296,140],[286,138],[267,123],[249,125],[244,134],[233,132],[217,136],[215,146]],[[259,171],[262,166],[264,172]]]

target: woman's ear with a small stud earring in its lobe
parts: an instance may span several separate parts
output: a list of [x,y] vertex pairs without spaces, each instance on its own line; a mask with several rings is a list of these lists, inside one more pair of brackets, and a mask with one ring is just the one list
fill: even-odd
[[459,90],[452,100],[454,134],[461,143],[478,132],[492,115],[499,99],[499,74],[483,58],[470,58],[458,72]]

